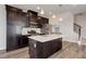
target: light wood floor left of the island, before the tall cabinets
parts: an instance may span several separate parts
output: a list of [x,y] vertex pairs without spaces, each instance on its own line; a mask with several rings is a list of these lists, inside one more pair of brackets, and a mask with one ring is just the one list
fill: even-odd
[[0,59],[28,59],[28,48],[17,49],[11,52],[2,52],[0,53]]

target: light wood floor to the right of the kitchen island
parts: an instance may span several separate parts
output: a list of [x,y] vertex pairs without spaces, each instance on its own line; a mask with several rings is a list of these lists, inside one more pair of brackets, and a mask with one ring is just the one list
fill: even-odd
[[86,59],[86,46],[78,46],[73,42],[63,42],[63,48],[49,59]]

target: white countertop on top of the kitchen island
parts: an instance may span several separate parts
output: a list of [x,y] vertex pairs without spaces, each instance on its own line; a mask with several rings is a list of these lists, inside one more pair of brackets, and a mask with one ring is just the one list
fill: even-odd
[[46,41],[62,38],[62,37],[63,37],[62,35],[51,34],[51,35],[42,35],[42,36],[30,36],[28,38],[40,41],[40,42],[46,42]]

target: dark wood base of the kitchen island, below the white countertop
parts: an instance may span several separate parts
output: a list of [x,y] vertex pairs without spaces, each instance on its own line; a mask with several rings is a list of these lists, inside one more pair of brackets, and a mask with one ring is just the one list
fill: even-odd
[[32,59],[45,59],[62,49],[62,38],[39,42],[29,39],[29,56]]

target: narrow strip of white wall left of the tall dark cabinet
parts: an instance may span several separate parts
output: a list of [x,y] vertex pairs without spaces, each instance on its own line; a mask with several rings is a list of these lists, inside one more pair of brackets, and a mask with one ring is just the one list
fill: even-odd
[[0,4],[0,50],[5,49],[7,44],[7,14],[5,14],[5,7]]

